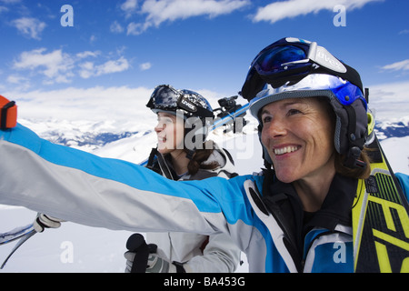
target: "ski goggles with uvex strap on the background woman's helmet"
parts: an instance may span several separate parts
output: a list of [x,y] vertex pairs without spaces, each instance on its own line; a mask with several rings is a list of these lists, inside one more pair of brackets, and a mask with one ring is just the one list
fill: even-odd
[[175,112],[176,110],[183,110],[188,116],[214,116],[212,107],[207,102],[198,104],[193,94],[185,94],[184,92],[176,90],[170,85],[158,85],[146,106],[153,111]]

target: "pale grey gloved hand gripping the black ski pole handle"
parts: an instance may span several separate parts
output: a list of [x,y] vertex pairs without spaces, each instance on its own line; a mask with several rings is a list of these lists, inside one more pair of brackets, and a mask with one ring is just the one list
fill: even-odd
[[[163,250],[152,244],[148,246],[150,249],[156,249],[156,251],[149,254],[146,273],[177,273],[176,266],[166,257]],[[131,273],[135,253],[128,251],[124,256],[126,258],[125,273]]]

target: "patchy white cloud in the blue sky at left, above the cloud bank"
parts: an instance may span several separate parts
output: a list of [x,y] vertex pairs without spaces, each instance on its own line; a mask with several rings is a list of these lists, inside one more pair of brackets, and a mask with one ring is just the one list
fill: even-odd
[[94,62],[86,60],[90,57],[95,59],[99,55],[102,55],[99,51],[85,51],[70,55],[64,53],[62,49],[47,53],[45,48],[39,48],[23,52],[15,60],[13,67],[17,70],[31,70],[32,75],[35,73],[44,75],[44,83],[47,85],[70,83],[75,75],[89,78],[123,72],[130,67],[124,56],[116,60],[107,60],[101,65],[95,65]]

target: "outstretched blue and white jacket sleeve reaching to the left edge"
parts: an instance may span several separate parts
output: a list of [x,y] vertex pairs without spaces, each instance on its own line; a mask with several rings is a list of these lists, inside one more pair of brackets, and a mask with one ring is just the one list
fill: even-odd
[[78,224],[204,235],[230,232],[238,219],[251,224],[243,179],[170,181],[143,166],[49,143],[22,125],[0,131],[0,161],[0,204]]

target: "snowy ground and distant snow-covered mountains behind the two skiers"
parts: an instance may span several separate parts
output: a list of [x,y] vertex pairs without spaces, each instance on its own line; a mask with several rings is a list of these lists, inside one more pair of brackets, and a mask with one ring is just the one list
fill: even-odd
[[[246,116],[247,119],[247,116]],[[261,146],[256,135],[255,121],[243,134],[224,134],[216,130],[210,136],[230,151],[239,174],[251,174],[263,166]],[[20,120],[38,135],[65,146],[73,146],[95,155],[142,162],[155,146],[155,119],[146,123],[114,121],[34,122]],[[376,124],[376,133],[395,172],[409,175],[409,117]],[[150,124],[150,125],[149,125]],[[0,206],[0,232],[25,226],[35,218],[35,212],[22,207]],[[125,242],[131,235],[126,231],[80,226],[65,222],[58,229],[45,230],[30,238],[18,249],[0,273],[9,272],[124,272]],[[0,264],[15,246],[0,246]],[[246,258],[238,272],[247,272]]]

